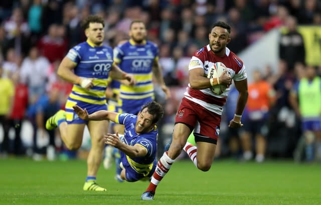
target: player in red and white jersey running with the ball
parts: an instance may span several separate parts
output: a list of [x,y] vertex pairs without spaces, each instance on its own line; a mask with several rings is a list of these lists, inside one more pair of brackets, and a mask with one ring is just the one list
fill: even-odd
[[[159,159],[149,186],[141,195],[142,200],[152,200],[158,183],[169,171],[174,160],[184,149],[194,164],[202,171],[208,171],[214,160],[216,143],[220,131],[221,114],[229,88],[221,95],[215,95],[211,87],[217,84],[229,86],[231,80],[239,92],[234,118],[229,127],[241,127],[248,92],[247,75],[243,62],[226,45],[231,41],[231,27],[217,22],[209,34],[209,45],[198,50],[189,65],[189,85],[175,119],[173,142]],[[211,66],[221,62],[227,70],[217,79],[207,78]],[[187,142],[194,129],[197,146]]]

